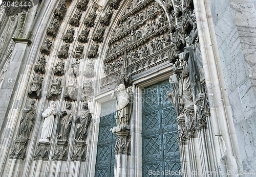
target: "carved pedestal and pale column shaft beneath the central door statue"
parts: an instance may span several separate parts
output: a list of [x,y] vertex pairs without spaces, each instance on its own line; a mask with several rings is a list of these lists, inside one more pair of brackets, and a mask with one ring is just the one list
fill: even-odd
[[127,137],[129,131],[121,131],[115,133],[117,141],[115,145],[115,171],[114,176],[126,176],[127,174],[127,154],[129,148],[129,142]]

